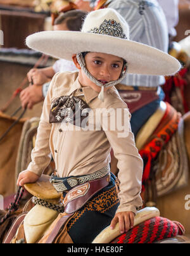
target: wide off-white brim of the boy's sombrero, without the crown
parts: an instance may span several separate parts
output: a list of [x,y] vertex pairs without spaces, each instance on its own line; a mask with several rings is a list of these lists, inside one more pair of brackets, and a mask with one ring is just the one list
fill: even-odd
[[35,51],[65,60],[72,60],[73,54],[84,51],[120,56],[127,61],[129,74],[173,75],[181,68],[177,59],[163,51],[110,35],[44,31],[29,35],[26,44]]

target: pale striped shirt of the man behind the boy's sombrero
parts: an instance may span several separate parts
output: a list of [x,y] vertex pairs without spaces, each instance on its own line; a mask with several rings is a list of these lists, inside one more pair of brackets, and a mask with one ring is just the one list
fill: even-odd
[[[167,1],[167,0],[165,0]],[[156,0],[112,0],[108,6],[129,23],[130,40],[168,51],[168,28],[162,8]],[[127,75],[126,86],[157,87],[165,83],[158,75]]]

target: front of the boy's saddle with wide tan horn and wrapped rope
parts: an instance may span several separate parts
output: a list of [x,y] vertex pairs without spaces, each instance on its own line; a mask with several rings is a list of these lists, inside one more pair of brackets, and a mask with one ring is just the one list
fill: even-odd
[[[34,196],[37,203],[19,223],[18,234],[13,241],[18,242],[23,239],[26,243],[53,243],[61,226],[66,224],[89,198],[105,188],[109,182],[110,174],[98,180],[80,184],[68,191],[64,200],[61,200],[62,194],[58,193],[49,182],[49,176],[42,175],[37,182],[25,184],[25,189]],[[10,240],[11,238],[6,238],[6,241]],[[64,241],[68,240],[72,241],[67,234]]]

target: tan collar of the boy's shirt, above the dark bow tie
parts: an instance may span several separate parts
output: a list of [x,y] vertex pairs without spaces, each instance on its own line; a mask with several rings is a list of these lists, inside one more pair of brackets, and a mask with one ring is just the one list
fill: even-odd
[[79,78],[73,82],[68,95],[70,96],[72,93],[75,92],[75,96],[82,96],[84,95],[85,102],[88,104],[92,99],[98,97],[99,93],[94,91],[90,86],[82,87]]

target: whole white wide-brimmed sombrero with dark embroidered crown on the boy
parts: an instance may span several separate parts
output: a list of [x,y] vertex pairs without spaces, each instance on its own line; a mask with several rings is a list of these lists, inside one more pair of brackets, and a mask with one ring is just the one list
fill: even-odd
[[29,35],[26,42],[29,48],[66,60],[86,51],[120,56],[127,61],[129,74],[172,75],[181,68],[169,54],[130,41],[129,25],[111,8],[89,13],[81,32],[44,31]]

